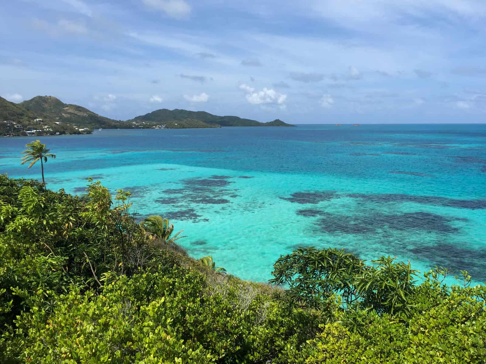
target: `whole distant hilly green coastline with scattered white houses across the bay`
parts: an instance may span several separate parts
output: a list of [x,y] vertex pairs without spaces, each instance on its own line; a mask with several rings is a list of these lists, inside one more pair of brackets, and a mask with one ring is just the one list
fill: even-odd
[[186,129],[241,126],[287,127],[280,119],[267,123],[205,111],[160,109],[130,120],[114,120],[53,96],[36,96],[20,103],[0,97],[0,135],[87,134],[94,129]]

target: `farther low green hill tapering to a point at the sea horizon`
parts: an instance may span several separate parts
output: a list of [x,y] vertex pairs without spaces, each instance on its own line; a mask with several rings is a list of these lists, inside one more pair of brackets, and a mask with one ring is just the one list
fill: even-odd
[[291,126],[290,124],[286,124],[278,119],[268,123],[260,123],[257,120],[243,119],[238,116],[217,116],[209,114],[205,111],[188,111],[181,109],[160,109],[145,115],[134,117],[128,121],[145,122],[150,124],[167,124],[185,119],[200,120],[204,123],[219,126]]

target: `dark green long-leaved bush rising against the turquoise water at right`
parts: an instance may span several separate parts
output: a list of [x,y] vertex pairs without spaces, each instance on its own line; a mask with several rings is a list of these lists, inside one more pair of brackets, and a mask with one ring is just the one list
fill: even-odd
[[292,305],[329,311],[339,296],[344,308],[406,316],[417,270],[394,261],[388,256],[365,265],[344,249],[298,248],[278,259],[270,282],[289,287],[284,298]]

